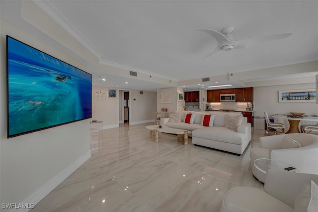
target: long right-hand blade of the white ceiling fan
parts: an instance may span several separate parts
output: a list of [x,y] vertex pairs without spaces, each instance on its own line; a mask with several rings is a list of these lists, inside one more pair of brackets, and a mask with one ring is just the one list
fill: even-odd
[[293,33],[283,33],[283,34],[275,34],[275,35],[266,35],[258,38],[251,38],[248,40],[240,40],[240,41],[233,41],[235,42],[235,48],[248,48],[251,46],[255,46],[261,43],[266,43],[272,40],[278,40],[278,39],[283,39],[286,37],[291,36]]

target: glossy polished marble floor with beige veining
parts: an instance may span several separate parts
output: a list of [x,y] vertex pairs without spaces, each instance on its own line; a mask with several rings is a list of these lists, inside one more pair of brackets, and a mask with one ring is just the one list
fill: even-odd
[[218,212],[231,188],[262,189],[249,152],[264,130],[237,156],[165,133],[154,143],[146,125],[92,133],[91,158],[30,212]]

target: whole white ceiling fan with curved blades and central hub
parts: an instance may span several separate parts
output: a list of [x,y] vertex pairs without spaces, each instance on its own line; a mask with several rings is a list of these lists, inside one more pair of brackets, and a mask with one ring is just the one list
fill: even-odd
[[205,59],[210,57],[213,53],[218,51],[230,51],[232,49],[244,49],[251,46],[255,46],[261,43],[265,43],[272,40],[282,39],[291,36],[293,33],[283,33],[283,34],[274,34],[266,35],[258,38],[251,38],[247,40],[233,40],[233,35],[231,34],[234,31],[233,26],[227,26],[222,29],[221,33],[212,29],[198,29],[196,31],[202,31],[212,35],[218,42],[217,47],[214,51],[207,56]]

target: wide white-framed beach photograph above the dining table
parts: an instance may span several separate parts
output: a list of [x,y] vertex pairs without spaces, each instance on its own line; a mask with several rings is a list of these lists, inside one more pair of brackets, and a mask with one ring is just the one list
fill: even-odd
[[317,89],[278,91],[279,103],[315,103]]

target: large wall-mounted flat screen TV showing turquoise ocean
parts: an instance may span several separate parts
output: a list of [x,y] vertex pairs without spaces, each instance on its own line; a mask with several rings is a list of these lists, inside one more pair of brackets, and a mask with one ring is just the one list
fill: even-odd
[[91,74],[6,36],[7,137],[91,118]]

